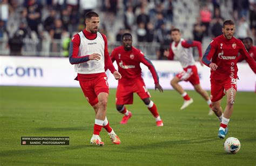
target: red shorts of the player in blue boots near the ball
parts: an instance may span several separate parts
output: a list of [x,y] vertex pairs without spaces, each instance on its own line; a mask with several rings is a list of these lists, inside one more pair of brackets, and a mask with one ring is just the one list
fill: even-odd
[[225,80],[211,79],[211,100],[217,102],[225,96],[224,90],[233,88],[237,91],[237,78],[227,78]]

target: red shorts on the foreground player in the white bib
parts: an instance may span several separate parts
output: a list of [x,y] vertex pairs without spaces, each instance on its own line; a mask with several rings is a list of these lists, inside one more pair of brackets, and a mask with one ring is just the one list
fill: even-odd
[[84,96],[91,106],[98,103],[98,95],[100,92],[109,93],[109,84],[105,73],[99,74],[94,80],[79,81],[79,84],[84,92]]

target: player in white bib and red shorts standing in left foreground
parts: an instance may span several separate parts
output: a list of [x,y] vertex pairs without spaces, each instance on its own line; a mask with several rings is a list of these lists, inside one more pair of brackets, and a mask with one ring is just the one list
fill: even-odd
[[75,80],[84,92],[84,96],[96,113],[94,131],[91,143],[103,146],[99,133],[104,127],[114,144],[120,144],[120,139],[114,133],[106,118],[109,85],[105,69],[110,69],[117,80],[121,75],[114,69],[107,50],[106,36],[98,32],[99,16],[96,12],[88,12],[85,16],[86,28],[76,34],[70,43],[69,61],[75,64],[77,77]]

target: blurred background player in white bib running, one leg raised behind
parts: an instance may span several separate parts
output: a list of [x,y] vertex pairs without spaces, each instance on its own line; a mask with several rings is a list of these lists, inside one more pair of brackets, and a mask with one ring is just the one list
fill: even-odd
[[[178,84],[180,81],[189,81],[194,89],[206,100],[209,107],[211,107],[211,100],[208,93],[201,88],[197,67],[193,58],[192,48],[197,47],[199,59],[202,58],[202,46],[199,41],[184,40],[181,38],[181,33],[178,28],[171,30],[171,37],[173,42],[170,44],[170,50],[165,50],[164,55],[170,60],[178,60],[183,67],[183,71],[177,74],[171,81],[173,89],[178,91],[184,98],[184,103],[180,110],[185,109],[188,105],[193,103],[193,99],[187,95],[184,89]],[[203,66],[203,63],[201,63]],[[209,114],[212,114],[210,110]]]

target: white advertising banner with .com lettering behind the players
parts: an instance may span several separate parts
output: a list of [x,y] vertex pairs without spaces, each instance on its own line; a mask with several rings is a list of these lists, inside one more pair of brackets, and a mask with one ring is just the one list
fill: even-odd
[[[164,89],[172,89],[171,79],[183,71],[177,61],[153,60],[152,63],[157,70],[160,84]],[[117,68],[116,62],[114,66]],[[210,90],[210,68],[200,66],[196,62],[200,84],[203,89]],[[148,89],[154,89],[152,75],[143,64],[143,79]],[[238,91],[255,91],[255,74],[247,63],[238,63],[239,80]],[[0,56],[0,85],[11,86],[57,86],[57,87],[79,87],[75,81],[76,73],[68,58],[60,57],[21,57]],[[110,88],[117,87],[117,81],[107,70]],[[186,90],[192,90],[193,86],[188,82],[180,82]]]

